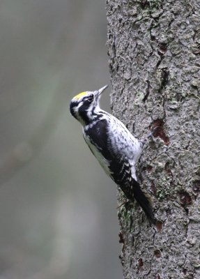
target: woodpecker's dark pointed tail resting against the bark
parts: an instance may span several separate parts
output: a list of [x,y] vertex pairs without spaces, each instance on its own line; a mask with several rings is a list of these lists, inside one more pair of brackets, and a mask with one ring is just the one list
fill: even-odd
[[[125,193],[125,196],[128,197],[130,200],[136,199],[141,208],[143,209],[144,213],[146,214],[146,217],[148,220],[155,224],[155,216],[153,213],[153,209],[151,206],[151,203],[149,202],[148,198],[144,195],[142,192],[139,183],[132,179],[131,185],[126,186],[120,186],[121,190],[123,190],[123,193]],[[133,197],[134,196],[134,197]]]

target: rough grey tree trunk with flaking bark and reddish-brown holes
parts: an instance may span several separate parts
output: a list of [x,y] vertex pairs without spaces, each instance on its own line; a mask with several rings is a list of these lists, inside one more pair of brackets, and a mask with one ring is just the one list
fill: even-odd
[[107,0],[112,112],[139,138],[160,126],[137,166],[157,224],[136,203],[118,210],[126,279],[200,278],[199,11],[199,0]]

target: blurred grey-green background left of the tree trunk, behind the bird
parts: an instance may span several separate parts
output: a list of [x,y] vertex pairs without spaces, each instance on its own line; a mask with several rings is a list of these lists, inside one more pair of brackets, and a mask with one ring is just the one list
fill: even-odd
[[69,112],[109,82],[106,24],[105,0],[0,2],[0,279],[123,277],[116,186]]

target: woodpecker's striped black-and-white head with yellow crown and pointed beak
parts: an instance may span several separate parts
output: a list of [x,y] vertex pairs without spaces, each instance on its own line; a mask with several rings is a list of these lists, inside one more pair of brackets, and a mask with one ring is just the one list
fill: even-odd
[[100,110],[99,102],[101,93],[107,88],[108,85],[103,86],[96,91],[85,91],[79,93],[72,98],[70,103],[70,113],[75,117],[83,126],[92,121]]

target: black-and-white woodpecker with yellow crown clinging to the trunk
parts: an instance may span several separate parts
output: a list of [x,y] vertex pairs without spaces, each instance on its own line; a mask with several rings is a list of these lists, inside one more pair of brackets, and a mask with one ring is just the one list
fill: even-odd
[[100,97],[106,88],[107,85],[79,93],[70,102],[70,113],[82,124],[84,140],[106,174],[130,201],[137,200],[148,220],[155,224],[151,203],[142,192],[135,172],[146,139],[137,140],[121,121],[100,109]]

